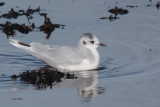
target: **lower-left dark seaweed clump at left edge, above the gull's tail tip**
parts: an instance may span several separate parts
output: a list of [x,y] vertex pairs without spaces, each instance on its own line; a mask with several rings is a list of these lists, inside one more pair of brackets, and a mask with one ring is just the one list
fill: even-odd
[[11,23],[9,21],[5,24],[1,24],[0,27],[2,27],[2,31],[7,35],[7,38],[10,35],[15,35],[15,31],[19,31],[23,34],[28,34],[31,31],[31,28],[25,24]]

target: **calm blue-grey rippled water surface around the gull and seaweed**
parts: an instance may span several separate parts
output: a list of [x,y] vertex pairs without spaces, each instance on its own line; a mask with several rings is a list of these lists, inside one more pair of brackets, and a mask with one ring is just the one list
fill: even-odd
[[[44,66],[38,59],[11,46],[0,31],[0,105],[5,107],[92,106],[92,107],[159,107],[160,103],[160,10],[158,0],[5,0],[0,14],[15,10],[41,7],[53,23],[66,25],[55,29],[50,39],[37,31],[24,35],[16,32],[14,39],[26,43],[36,41],[50,45],[76,46],[84,32],[95,33],[108,45],[99,48],[99,71],[83,71],[78,79],[64,79],[50,89],[11,80],[10,75]],[[147,7],[146,5],[152,4]],[[110,22],[109,9],[128,9],[127,15]],[[126,5],[138,7],[129,8]],[[43,19],[37,14],[31,20],[37,26]],[[25,17],[10,20],[27,23]],[[0,18],[1,23],[6,19]]]

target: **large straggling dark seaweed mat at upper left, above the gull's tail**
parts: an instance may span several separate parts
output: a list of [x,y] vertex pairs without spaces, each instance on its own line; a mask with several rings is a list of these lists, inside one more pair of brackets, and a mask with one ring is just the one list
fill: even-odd
[[[41,26],[36,27],[35,23],[30,23],[30,20],[33,17],[34,13],[38,13],[39,17],[44,17],[44,23]],[[7,38],[9,36],[16,35],[16,31],[28,34],[31,31],[34,31],[35,28],[39,29],[41,32],[44,32],[47,34],[46,38],[49,39],[51,33],[55,30],[55,28],[64,28],[65,25],[61,24],[53,24],[50,21],[50,18],[47,17],[47,13],[41,13],[40,7],[36,9],[31,9],[30,7],[27,10],[18,10],[15,11],[13,8],[11,8],[8,13],[4,13],[0,15],[0,18],[6,18],[6,19],[17,19],[20,16],[26,16],[28,23],[18,24],[18,23],[12,23],[10,21],[6,21],[4,24],[0,24],[0,30],[3,31],[3,33],[6,34]]]

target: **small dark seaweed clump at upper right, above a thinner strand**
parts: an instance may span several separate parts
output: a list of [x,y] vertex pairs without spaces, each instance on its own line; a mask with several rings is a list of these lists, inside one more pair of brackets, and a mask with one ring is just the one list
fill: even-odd
[[127,9],[118,8],[115,6],[115,8],[108,10],[110,13],[115,14],[117,16],[118,14],[124,15],[127,14],[129,11]]

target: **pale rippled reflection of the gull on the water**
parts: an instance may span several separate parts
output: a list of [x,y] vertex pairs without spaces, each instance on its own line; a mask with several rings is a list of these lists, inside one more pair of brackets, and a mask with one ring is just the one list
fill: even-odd
[[98,70],[92,71],[79,71],[74,72],[77,79],[65,79],[59,84],[56,84],[56,88],[77,88],[78,95],[84,98],[85,102],[90,101],[98,94],[105,92],[104,87],[97,87],[98,84]]

